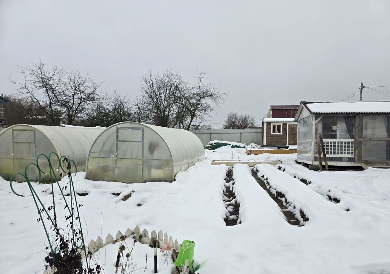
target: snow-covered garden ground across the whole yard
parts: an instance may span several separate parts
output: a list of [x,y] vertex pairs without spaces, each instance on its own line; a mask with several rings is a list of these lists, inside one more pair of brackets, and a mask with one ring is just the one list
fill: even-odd
[[[85,173],[74,177],[87,241],[138,225],[141,230],[163,230],[179,240],[195,241],[197,271],[206,273],[390,273],[390,170],[310,171],[295,164],[296,154],[246,155],[244,148],[206,150],[207,160],[177,175],[176,181],[123,184],[90,181]],[[212,159],[281,160],[275,166],[257,166],[258,176],[268,178],[309,221],[291,226],[245,164],[233,170],[234,192],[240,203],[241,224],[225,226],[223,203],[225,165]],[[284,172],[282,171],[284,170]],[[298,177],[297,179],[294,179]],[[298,179],[312,183],[306,186]],[[60,183],[65,185],[67,178]],[[0,269],[2,273],[42,273],[45,236],[26,183],[0,179]],[[51,204],[50,186],[33,184],[45,205]],[[134,191],[134,192],[132,192]],[[57,215],[64,216],[58,190]],[[112,193],[121,193],[115,196]],[[121,197],[132,193],[122,201]],[[327,195],[340,200],[330,202]],[[346,211],[349,209],[349,211]],[[64,221],[59,218],[59,221]],[[130,246],[132,240],[127,239]],[[95,253],[106,274],[115,273],[118,244]],[[133,260],[152,273],[153,250],[137,243]],[[171,273],[159,253],[159,273]],[[144,272],[142,268],[140,273]]]

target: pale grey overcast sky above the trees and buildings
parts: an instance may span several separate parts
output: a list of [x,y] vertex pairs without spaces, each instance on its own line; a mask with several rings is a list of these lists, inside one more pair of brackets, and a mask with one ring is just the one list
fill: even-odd
[[[16,92],[6,77],[19,77],[17,64],[39,58],[131,98],[149,69],[189,82],[201,69],[229,93],[210,118],[220,128],[230,109],[262,119],[271,104],[390,85],[389,14],[389,0],[0,0],[0,93]],[[363,100],[387,99],[363,90]]]

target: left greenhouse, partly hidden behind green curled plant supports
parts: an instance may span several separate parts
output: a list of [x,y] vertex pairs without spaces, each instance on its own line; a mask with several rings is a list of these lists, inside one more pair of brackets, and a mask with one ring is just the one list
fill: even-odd
[[[25,173],[25,167],[34,163],[39,154],[49,155],[56,152],[58,156],[66,156],[77,165],[78,171],[85,171],[85,162],[92,142],[103,131],[93,127],[55,127],[37,125],[15,125],[0,132],[0,176],[11,179],[14,173]],[[54,170],[58,160],[52,155]],[[41,170],[50,174],[47,159],[39,157]],[[39,172],[34,166],[27,169],[28,179],[37,181]],[[49,175],[41,180],[48,180]],[[15,180],[22,181],[17,176]]]

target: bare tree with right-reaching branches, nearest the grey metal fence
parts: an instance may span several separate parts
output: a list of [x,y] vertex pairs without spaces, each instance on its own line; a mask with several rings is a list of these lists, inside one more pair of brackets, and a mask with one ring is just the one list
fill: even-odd
[[179,88],[175,93],[176,99],[188,112],[185,122],[187,130],[200,128],[204,125],[205,117],[215,114],[216,107],[227,99],[227,94],[217,92],[211,83],[204,83],[208,80],[204,77],[204,72],[198,71],[197,83],[186,88]]

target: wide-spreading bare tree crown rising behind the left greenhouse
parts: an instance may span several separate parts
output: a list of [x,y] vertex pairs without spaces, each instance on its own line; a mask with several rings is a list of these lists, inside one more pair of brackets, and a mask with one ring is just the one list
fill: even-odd
[[18,94],[34,103],[36,110],[42,112],[53,126],[63,116],[67,124],[72,124],[99,99],[101,83],[95,83],[78,71],[67,72],[57,66],[46,69],[41,61],[18,67],[23,80],[9,78],[9,81],[18,87]]

